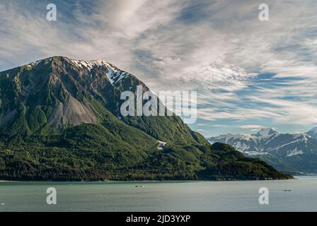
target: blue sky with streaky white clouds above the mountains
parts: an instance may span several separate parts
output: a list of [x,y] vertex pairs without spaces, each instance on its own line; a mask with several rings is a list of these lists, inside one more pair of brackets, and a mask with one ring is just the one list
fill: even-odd
[[[57,21],[46,20],[56,4]],[[197,90],[204,136],[317,124],[317,2],[0,2],[0,71],[62,55],[109,61],[160,90]]]

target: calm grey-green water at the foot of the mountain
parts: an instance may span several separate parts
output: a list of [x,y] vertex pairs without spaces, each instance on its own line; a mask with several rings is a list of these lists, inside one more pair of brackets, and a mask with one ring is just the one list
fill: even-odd
[[[48,187],[57,190],[57,205],[47,204]],[[268,205],[258,202],[261,187],[269,189]],[[317,211],[317,177],[257,182],[0,182],[0,211]]]

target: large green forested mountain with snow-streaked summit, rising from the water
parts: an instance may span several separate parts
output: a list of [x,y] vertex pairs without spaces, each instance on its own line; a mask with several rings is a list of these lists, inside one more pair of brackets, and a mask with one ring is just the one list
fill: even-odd
[[[174,116],[122,117],[135,76],[51,57],[0,73],[0,179],[287,179]],[[167,111],[166,108],[164,108]]]

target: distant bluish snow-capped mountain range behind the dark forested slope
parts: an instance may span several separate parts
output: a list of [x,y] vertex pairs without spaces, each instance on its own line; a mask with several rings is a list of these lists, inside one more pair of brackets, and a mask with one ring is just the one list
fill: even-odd
[[279,133],[261,129],[258,133],[226,134],[207,138],[210,143],[228,143],[236,150],[260,157],[287,172],[317,172],[317,126],[307,133]]

